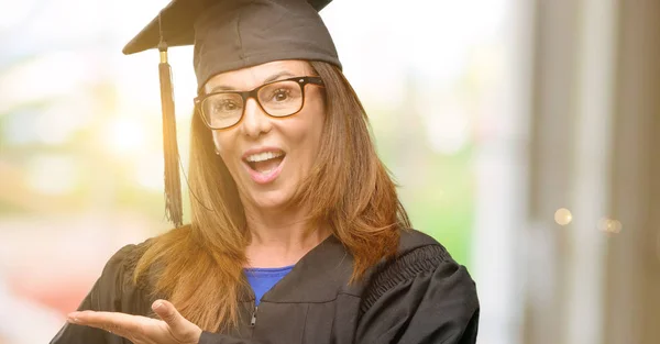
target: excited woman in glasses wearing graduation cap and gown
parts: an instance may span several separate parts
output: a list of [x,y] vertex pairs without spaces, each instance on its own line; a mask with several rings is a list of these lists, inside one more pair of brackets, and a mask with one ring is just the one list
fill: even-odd
[[129,44],[195,45],[191,223],[120,249],[52,343],[476,341],[474,282],[409,230],[327,2],[175,1]]

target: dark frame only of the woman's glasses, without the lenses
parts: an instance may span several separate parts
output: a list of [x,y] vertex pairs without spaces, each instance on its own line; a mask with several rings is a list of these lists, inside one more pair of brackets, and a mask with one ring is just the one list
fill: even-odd
[[[271,86],[273,84],[277,84],[277,82],[283,82],[283,81],[296,81],[298,84],[298,86],[300,86],[300,96],[302,97],[302,103],[300,104],[300,109],[298,109],[297,111],[287,114],[287,115],[272,115],[268,113],[268,111],[266,111],[266,109],[264,109],[264,107],[262,106],[261,101],[258,100],[258,91],[267,86]],[[305,86],[307,85],[316,85],[316,86],[320,86],[320,87],[324,87],[323,85],[323,80],[320,77],[316,77],[316,76],[302,76],[302,77],[293,77],[293,78],[288,78],[288,79],[282,79],[282,80],[275,80],[275,81],[271,81],[271,82],[266,82],[264,85],[261,85],[256,88],[254,88],[253,90],[250,91],[218,91],[218,92],[211,92],[208,95],[202,95],[202,96],[198,96],[195,97],[194,101],[195,101],[195,112],[199,113],[199,115],[201,116],[201,121],[204,122],[204,124],[210,129],[210,130],[228,130],[228,129],[232,129],[237,125],[239,125],[242,121],[243,118],[245,116],[245,106],[248,104],[248,99],[254,99],[254,101],[256,101],[256,104],[258,106],[258,108],[262,110],[263,113],[265,113],[266,115],[268,115],[270,118],[274,118],[274,119],[284,119],[284,118],[288,118],[292,116],[298,112],[300,112],[302,110],[302,108],[305,108]],[[206,99],[208,99],[209,97],[216,96],[216,95],[239,95],[241,96],[241,99],[243,99],[243,111],[241,112],[241,118],[237,121],[237,123],[230,125],[230,126],[224,126],[224,127],[213,127],[211,126],[210,120],[207,118],[207,115],[204,112],[204,108],[201,107],[201,104],[204,103],[204,101]]]

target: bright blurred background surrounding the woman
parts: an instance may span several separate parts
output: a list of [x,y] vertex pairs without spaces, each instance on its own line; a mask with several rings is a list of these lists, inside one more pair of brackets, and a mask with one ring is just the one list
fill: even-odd
[[[46,343],[164,220],[167,0],[0,0],[0,343]],[[336,0],[322,12],[481,344],[660,343],[660,1]],[[187,162],[191,49],[170,49]],[[186,214],[189,214],[187,212]]]

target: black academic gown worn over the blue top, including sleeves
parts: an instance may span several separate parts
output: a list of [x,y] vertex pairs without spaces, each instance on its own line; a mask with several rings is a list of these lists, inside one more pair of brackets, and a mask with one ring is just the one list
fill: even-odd
[[[131,282],[134,245],[108,262],[79,310],[145,315],[154,299]],[[254,307],[240,300],[240,325],[204,332],[199,344],[471,344],[480,306],[474,281],[447,249],[417,231],[402,233],[396,259],[349,285],[353,259],[330,236]],[[252,297],[250,297],[252,296]],[[127,344],[109,332],[66,324],[51,344]]]

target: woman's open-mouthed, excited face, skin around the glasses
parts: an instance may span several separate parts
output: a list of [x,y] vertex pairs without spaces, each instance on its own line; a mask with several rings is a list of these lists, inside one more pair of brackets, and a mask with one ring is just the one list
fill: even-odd
[[[249,91],[266,82],[311,75],[314,69],[306,62],[272,62],[217,75],[204,90]],[[274,210],[292,199],[319,151],[324,115],[322,88],[308,84],[304,107],[294,115],[272,118],[250,98],[241,122],[212,131],[243,204]]]

